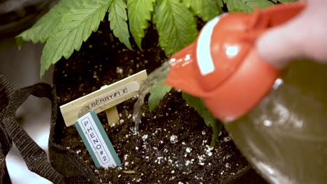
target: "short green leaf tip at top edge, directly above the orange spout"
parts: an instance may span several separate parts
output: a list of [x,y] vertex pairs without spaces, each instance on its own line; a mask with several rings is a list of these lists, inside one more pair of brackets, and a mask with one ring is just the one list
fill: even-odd
[[183,0],[187,8],[191,8],[195,15],[201,17],[205,22],[212,20],[212,18],[222,13],[221,6],[218,1],[212,0]]

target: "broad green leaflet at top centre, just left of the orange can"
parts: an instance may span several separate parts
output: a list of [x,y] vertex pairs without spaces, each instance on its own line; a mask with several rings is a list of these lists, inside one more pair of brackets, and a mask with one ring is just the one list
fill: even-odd
[[154,12],[154,22],[159,45],[166,55],[189,45],[198,35],[195,17],[179,0],[161,0]]

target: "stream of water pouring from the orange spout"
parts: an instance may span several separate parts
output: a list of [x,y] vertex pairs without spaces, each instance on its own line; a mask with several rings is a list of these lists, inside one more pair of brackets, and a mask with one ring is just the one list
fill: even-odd
[[164,62],[159,68],[156,68],[153,72],[151,72],[143,85],[140,86],[140,90],[138,91],[138,100],[136,101],[133,109],[133,121],[135,122],[135,126],[133,128],[133,132],[138,134],[138,125],[141,123],[141,107],[144,104],[144,98],[147,93],[149,93],[151,86],[156,84],[161,79],[166,79],[168,72],[170,71],[170,62]]

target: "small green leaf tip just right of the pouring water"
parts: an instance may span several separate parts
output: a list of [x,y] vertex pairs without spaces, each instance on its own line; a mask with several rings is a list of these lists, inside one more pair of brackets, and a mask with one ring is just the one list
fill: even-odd
[[160,100],[163,96],[166,95],[171,89],[171,86],[163,84],[164,80],[160,80],[157,84],[154,84],[150,89],[150,96],[148,99],[149,102],[149,111],[152,112],[155,107],[160,103]]

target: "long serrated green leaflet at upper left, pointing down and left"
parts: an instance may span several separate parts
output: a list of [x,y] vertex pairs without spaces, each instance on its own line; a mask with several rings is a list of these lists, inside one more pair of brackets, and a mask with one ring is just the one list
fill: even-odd
[[[66,0],[67,1],[67,0]],[[64,56],[68,59],[74,49],[79,51],[83,41],[96,31],[108,10],[108,1],[67,1],[71,7],[50,34],[41,56],[41,76],[45,70]]]

